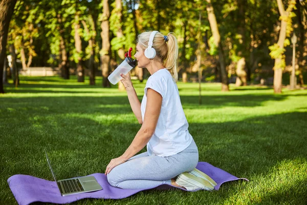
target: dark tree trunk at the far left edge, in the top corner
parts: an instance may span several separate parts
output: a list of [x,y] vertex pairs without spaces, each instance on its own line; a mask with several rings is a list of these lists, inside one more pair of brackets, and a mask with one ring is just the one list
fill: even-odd
[[4,93],[3,89],[3,67],[6,58],[6,45],[8,38],[9,24],[14,12],[17,0],[2,0],[0,2],[0,93]]

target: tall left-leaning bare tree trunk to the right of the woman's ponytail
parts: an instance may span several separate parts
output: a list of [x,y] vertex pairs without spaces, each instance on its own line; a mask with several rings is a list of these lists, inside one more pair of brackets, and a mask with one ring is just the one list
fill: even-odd
[[214,38],[214,44],[218,48],[218,61],[220,63],[220,71],[221,71],[221,77],[222,77],[222,91],[229,91],[228,87],[228,75],[226,71],[226,66],[225,66],[225,59],[224,59],[224,52],[223,52],[223,47],[221,43],[221,36],[220,32],[218,31],[217,27],[217,22],[214,14],[214,10],[211,4],[211,0],[206,0],[207,5],[207,13],[208,13],[208,20],[209,24],[211,27],[212,35]]

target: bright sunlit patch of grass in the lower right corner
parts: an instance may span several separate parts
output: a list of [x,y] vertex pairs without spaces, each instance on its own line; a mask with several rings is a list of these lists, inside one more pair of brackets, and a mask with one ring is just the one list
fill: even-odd
[[307,182],[306,171],[307,161],[304,158],[277,162],[267,174],[252,176],[248,185],[243,185],[245,189],[237,186],[237,193],[230,196],[225,204],[258,204],[273,201],[278,203],[296,201],[295,204],[303,204],[304,200],[297,201],[297,197],[305,194],[300,187],[305,186]]

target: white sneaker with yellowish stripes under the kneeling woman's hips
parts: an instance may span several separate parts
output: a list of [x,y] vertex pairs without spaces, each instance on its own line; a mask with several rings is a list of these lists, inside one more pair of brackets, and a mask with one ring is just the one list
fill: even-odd
[[201,177],[196,177],[188,172],[178,175],[176,183],[186,188],[188,191],[196,191],[200,189],[211,191],[214,189],[211,183],[207,180]]

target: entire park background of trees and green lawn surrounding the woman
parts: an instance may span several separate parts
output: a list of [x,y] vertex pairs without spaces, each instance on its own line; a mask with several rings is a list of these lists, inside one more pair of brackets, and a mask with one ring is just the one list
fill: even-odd
[[[141,125],[107,76],[148,30],[178,38],[178,87],[200,160],[250,182],[76,204],[307,201],[306,1],[2,0],[0,11],[3,204],[16,203],[14,174],[52,180],[44,149],[57,178],[103,172],[125,151]],[[149,73],[131,75],[141,100]]]

